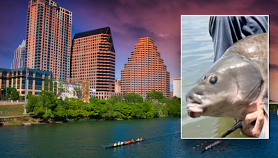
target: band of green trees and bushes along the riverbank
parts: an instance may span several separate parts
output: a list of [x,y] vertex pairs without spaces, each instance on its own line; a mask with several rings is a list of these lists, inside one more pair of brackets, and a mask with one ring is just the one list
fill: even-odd
[[27,122],[65,123],[181,116],[181,98],[174,96],[166,99],[160,91],[155,90],[147,93],[145,101],[134,93],[102,100],[92,97],[90,103],[80,98],[58,99],[61,97],[55,94],[56,91],[41,91],[37,96],[28,94],[26,112],[33,116],[3,119],[2,125],[5,122],[8,122],[6,125],[19,125]]

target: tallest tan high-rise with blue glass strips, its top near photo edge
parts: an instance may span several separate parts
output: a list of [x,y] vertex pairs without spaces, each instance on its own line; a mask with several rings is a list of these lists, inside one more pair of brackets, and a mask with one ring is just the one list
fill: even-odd
[[72,12],[53,0],[29,1],[24,67],[51,71],[56,79],[69,79],[71,33]]

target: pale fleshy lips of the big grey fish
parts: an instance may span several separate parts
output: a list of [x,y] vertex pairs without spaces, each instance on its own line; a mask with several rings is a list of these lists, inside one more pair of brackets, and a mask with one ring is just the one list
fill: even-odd
[[206,106],[200,103],[188,103],[187,112],[188,115],[192,118],[197,118],[202,116],[206,110]]

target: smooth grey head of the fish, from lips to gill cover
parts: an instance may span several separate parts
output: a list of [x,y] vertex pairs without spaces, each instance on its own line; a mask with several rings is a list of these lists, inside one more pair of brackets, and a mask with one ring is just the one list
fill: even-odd
[[244,119],[254,112],[263,79],[259,69],[238,53],[220,58],[186,94],[190,117],[215,116]]

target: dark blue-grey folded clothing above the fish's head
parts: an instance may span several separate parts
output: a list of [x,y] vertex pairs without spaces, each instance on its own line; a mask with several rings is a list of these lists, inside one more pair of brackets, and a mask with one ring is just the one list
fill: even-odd
[[222,57],[224,52],[238,40],[268,31],[266,17],[211,17],[209,33],[213,40],[214,62]]

